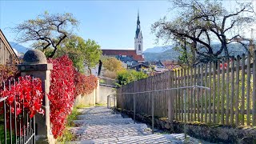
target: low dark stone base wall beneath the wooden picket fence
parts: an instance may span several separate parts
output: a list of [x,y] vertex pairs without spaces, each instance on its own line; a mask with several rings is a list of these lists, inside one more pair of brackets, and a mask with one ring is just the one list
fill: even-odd
[[[118,111],[121,111],[118,109]],[[133,111],[122,110],[123,114],[133,118]],[[136,121],[145,122],[151,125],[151,116],[136,114]],[[154,118],[154,127],[166,130],[170,133],[184,133],[184,123],[168,121],[166,118]],[[254,143],[256,144],[256,128],[238,127],[238,126],[221,126],[207,125],[200,123],[186,124],[187,134],[191,137],[205,140],[207,142],[223,142],[223,143]]]

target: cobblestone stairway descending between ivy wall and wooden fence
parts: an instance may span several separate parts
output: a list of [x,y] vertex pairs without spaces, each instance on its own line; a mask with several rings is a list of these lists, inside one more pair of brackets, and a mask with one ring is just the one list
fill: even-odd
[[[183,143],[184,134],[152,134],[143,123],[122,118],[114,110],[103,106],[79,109],[82,115],[74,121],[76,127],[68,130],[75,135],[74,144],[91,143]],[[198,143],[190,138],[190,143]]]

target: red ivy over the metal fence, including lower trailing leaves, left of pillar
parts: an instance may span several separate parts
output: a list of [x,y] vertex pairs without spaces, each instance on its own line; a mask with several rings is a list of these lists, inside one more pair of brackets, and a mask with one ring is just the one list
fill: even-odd
[[[18,82],[19,81],[19,82]],[[11,85],[6,82],[6,89],[3,90],[3,87],[0,90],[0,97],[6,98],[6,126],[10,129],[10,112],[14,112],[14,100],[16,102],[16,115],[22,114],[23,110],[27,110],[30,118],[34,117],[34,114],[44,114],[42,110],[42,82],[39,78],[32,79],[30,76],[19,77],[18,81],[15,82],[12,79]],[[4,113],[4,103],[0,102],[0,114]],[[24,107],[24,109],[23,109]],[[23,123],[20,119],[12,119],[12,129],[15,127],[15,121]],[[24,126],[25,129],[25,126]],[[21,130],[22,134],[23,129]],[[19,130],[17,131],[20,134]]]

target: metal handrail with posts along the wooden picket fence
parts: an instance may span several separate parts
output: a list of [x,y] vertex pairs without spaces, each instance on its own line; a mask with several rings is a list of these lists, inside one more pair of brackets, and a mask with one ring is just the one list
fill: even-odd
[[[162,89],[162,90],[149,90],[149,91],[142,91],[142,92],[134,92],[134,93],[121,93],[121,94],[110,94],[107,96],[108,98],[108,107],[109,107],[109,98],[110,96],[114,96],[114,95],[122,95],[122,94],[144,94],[144,93],[150,93],[150,92],[158,92],[158,91],[166,91],[166,90],[182,90],[182,89],[189,89],[189,88],[202,88],[202,89],[206,89],[210,92],[210,88],[206,87],[206,86],[183,86],[183,87],[174,87],[174,88],[168,88],[168,89]],[[184,97],[184,111],[185,111],[185,123],[184,123],[184,134],[185,134],[185,139],[186,139],[186,93],[184,93],[183,95]],[[134,97],[134,101],[135,101],[135,97]],[[114,99],[115,102],[115,99]],[[136,103],[134,102],[134,122],[135,122],[135,110],[136,110]],[[152,133],[154,134],[154,97],[152,97]]]

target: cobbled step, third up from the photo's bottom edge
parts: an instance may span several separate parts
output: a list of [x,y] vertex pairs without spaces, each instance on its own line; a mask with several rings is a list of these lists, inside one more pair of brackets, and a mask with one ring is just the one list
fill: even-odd
[[100,118],[94,120],[74,120],[74,126],[94,126],[94,125],[126,125],[133,124],[134,121],[131,118]]

